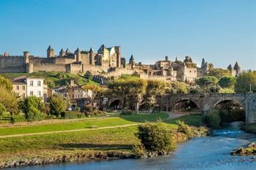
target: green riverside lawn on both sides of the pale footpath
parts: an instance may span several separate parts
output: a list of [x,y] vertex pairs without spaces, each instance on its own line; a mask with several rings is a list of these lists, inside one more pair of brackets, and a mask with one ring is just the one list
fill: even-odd
[[[73,123],[59,123],[52,125],[35,125],[28,127],[15,127],[18,133],[25,133],[44,129],[53,131],[53,128],[86,128],[89,125],[108,125],[143,123],[145,121],[156,121],[159,117],[163,120],[167,118],[164,113],[151,115],[122,115],[121,117],[110,117],[105,120],[83,120]],[[199,115],[188,115],[176,118],[187,123],[200,123]],[[196,119],[199,119],[196,121]],[[80,124],[81,123],[81,124]],[[166,120],[170,128],[176,128],[175,120]],[[74,127],[75,126],[75,127]],[[40,127],[40,128],[38,128]],[[7,130],[6,130],[7,129]],[[7,133],[11,128],[2,128]],[[39,130],[38,130],[39,129]],[[2,131],[3,130],[3,131]],[[14,131],[15,132],[15,131]],[[12,132],[12,133],[14,133]],[[132,152],[132,146],[138,142],[135,137],[137,126],[126,128],[94,129],[92,131],[61,132],[58,134],[39,134],[33,136],[19,136],[0,139],[0,162],[12,161],[24,158],[50,158],[56,155],[75,154],[78,152],[97,152],[97,151],[127,151]]]

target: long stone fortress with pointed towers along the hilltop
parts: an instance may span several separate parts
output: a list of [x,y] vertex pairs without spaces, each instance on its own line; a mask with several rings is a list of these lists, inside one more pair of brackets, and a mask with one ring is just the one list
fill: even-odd
[[[154,64],[136,63],[133,55],[126,62],[121,57],[121,47],[105,47],[102,45],[97,52],[93,48],[89,51],[79,48],[72,53],[69,48],[61,49],[56,55],[53,47],[48,47],[47,58],[30,55],[24,51],[23,55],[0,55],[0,72],[70,72],[74,74],[91,72],[94,75],[100,74],[103,77],[118,77],[121,74],[139,74],[144,79],[171,80],[181,82],[194,82],[197,78],[203,77],[213,69],[211,63],[204,59],[200,67],[186,56],[184,61],[157,61]],[[241,67],[236,62],[229,65],[227,70],[233,76],[238,76]]]

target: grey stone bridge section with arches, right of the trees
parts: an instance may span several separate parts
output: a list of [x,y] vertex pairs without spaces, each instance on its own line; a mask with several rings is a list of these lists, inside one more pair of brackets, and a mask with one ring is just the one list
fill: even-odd
[[181,101],[192,101],[206,113],[224,101],[235,101],[245,109],[246,123],[256,123],[256,93],[252,94],[165,94],[159,98],[161,110],[171,111]]

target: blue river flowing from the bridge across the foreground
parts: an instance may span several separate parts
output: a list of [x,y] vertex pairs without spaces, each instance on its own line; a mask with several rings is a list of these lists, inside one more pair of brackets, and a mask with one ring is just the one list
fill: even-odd
[[230,151],[256,136],[238,130],[238,123],[214,131],[212,136],[201,137],[178,144],[170,156],[155,158],[91,161],[88,163],[62,163],[28,166],[15,170],[254,170],[256,156],[231,156]]

